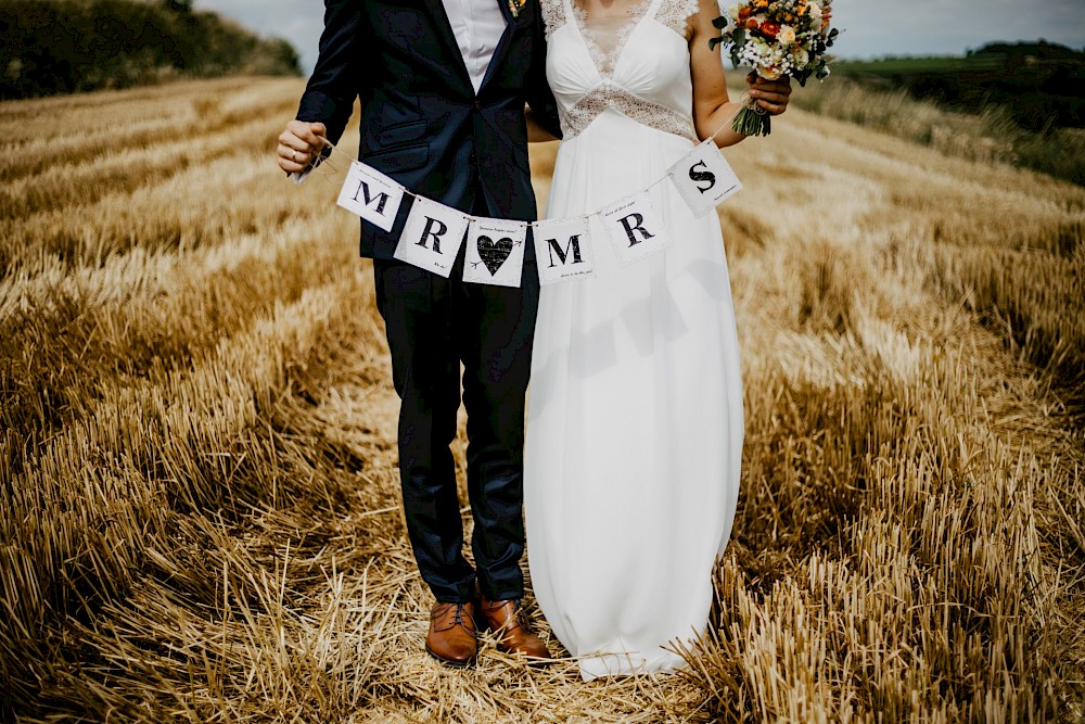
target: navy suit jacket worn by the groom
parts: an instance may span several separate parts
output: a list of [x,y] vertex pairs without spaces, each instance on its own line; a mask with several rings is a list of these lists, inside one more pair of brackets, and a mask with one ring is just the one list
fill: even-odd
[[[320,55],[297,118],[340,140],[361,104],[359,160],[407,189],[470,213],[481,189],[489,216],[531,221],[535,192],[524,103],[560,137],[546,80],[539,0],[513,16],[476,94],[442,0],[326,0]],[[392,232],[361,225],[361,255],[391,259],[410,207]],[[525,250],[534,257],[532,244]]]

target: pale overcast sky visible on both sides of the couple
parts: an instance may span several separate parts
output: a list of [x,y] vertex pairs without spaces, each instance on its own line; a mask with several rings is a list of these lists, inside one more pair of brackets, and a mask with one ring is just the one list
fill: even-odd
[[[361,1],[361,0],[359,0]],[[537,1],[537,0],[535,0]],[[196,0],[264,35],[286,38],[308,73],[317,60],[322,0]],[[992,40],[1046,38],[1085,47],[1085,0],[835,0],[841,58],[961,54]]]

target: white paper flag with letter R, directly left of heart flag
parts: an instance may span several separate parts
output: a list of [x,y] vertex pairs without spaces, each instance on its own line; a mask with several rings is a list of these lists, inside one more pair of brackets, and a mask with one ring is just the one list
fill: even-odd
[[469,223],[463,212],[418,196],[393,256],[447,279]]

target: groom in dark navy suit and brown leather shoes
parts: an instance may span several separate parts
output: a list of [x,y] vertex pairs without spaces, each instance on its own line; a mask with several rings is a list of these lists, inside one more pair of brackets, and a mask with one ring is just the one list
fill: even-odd
[[[473,216],[534,220],[525,101],[560,135],[546,82],[538,0],[326,0],[320,55],[279,165],[303,173],[326,156],[356,99],[360,160],[404,187]],[[500,647],[548,658],[521,607],[524,395],[538,305],[532,244],[519,289],[464,283],[396,261],[410,203],[391,233],[362,223],[376,303],[401,399],[399,473],[407,531],[436,597],[426,649],[451,664],[475,657],[478,628]],[[463,364],[472,550],[449,444]],[[481,599],[475,602],[475,590]]]

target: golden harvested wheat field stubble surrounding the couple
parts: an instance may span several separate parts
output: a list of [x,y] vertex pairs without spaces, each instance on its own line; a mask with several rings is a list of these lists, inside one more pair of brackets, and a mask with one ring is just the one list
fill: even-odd
[[301,89],[0,104],[5,719],[1085,716],[1085,189],[797,110],[728,150],[746,444],[711,635],[672,677],[492,640],[454,671],[334,205],[356,129],[340,176],[275,166]]

